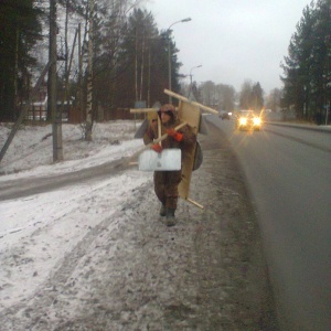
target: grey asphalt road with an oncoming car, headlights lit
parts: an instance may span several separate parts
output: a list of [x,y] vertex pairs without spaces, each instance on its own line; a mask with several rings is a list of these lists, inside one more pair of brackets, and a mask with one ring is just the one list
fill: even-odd
[[231,141],[258,214],[282,330],[331,330],[331,131],[265,125]]

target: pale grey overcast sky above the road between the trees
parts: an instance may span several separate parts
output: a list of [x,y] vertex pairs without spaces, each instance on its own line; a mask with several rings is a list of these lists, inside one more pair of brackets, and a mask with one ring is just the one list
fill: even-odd
[[[245,79],[260,83],[269,93],[281,87],[280,62],[302,10],[310,0],[149,0],[160,30],[172,26],[180,50],[181,74],[193,68],[196,83],[213,81],[239,92]],[[189,83],[190,79],[186,78]]]

